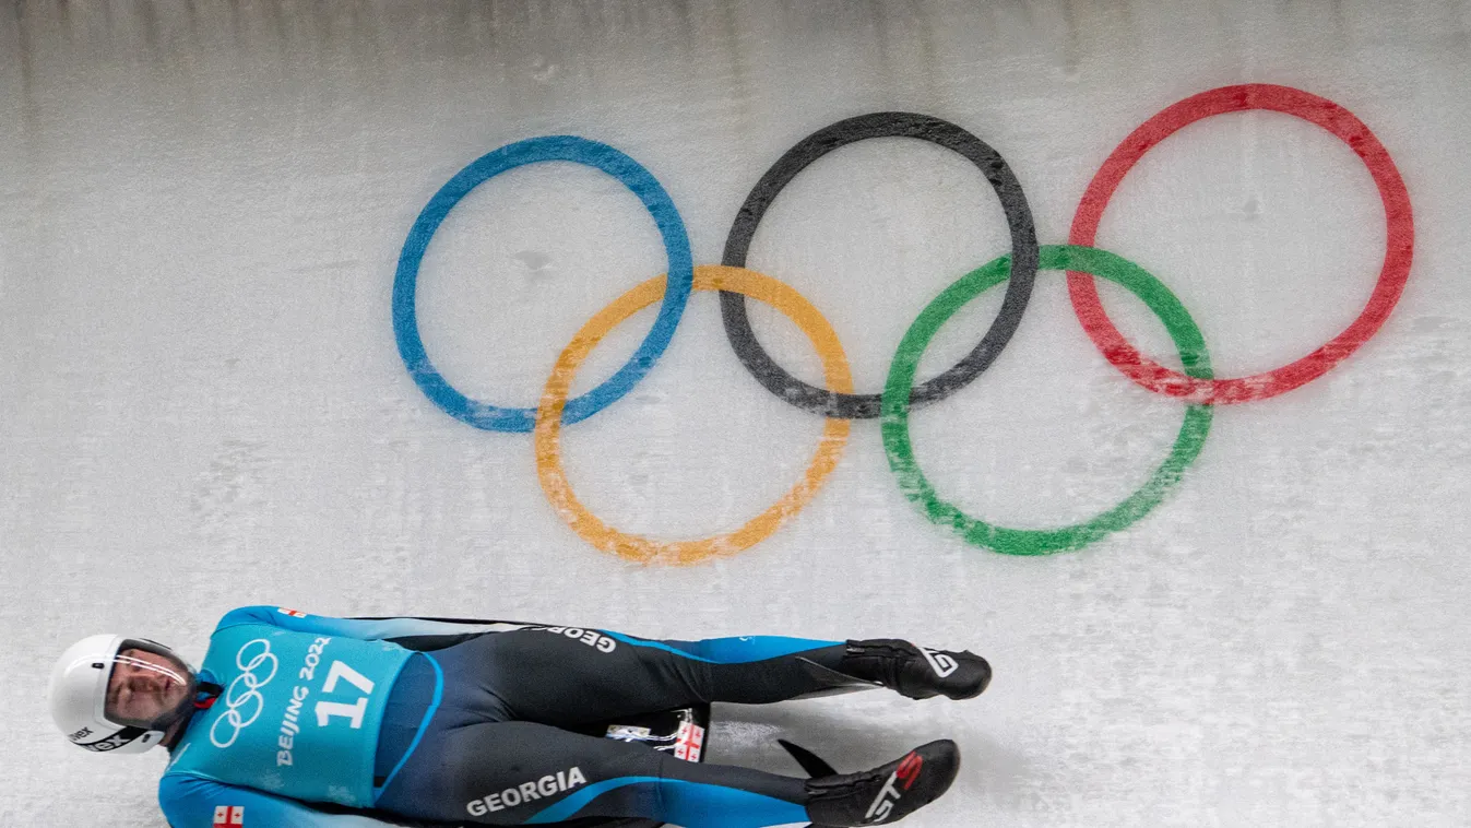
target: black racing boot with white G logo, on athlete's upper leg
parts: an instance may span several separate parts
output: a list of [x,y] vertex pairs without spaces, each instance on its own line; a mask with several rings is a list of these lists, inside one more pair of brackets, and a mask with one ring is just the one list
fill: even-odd
[[991,682],[991,665],[969,650],[931,650],[897,638],[849,641],[838,669],[911,699],[974,699]]

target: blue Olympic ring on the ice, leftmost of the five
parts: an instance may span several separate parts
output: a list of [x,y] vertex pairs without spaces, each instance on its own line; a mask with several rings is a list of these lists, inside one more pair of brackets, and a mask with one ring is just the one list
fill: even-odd
[[684,306],[688,303],[694,285],[694,257],[690,253],[690,237],[684,229],[680,210],[675,209],[674,200],[669,199],[659,181],[627,154],[608,144],[575,135],[546,135],[506,144],[474,160],[430,199],[418,221],[413,222],[413,228],[409,229],[409,238],[405,240],[403,251],[399,254],[399,272],[393,279],[393,335],[399,341],[399,356],[403,357],[403,366],[409,369],[409,376],[413,376],[424,396],[450,416],[485,431],[531,431],[535,425],[537,409],[500,407],[471,400],[455,390],[430,363],[428,354],[424,353],[424,340],[419,338],[419,319],[415,309],[419,263],[424,260],[430,240],[434,238],[434,231],[471,190],[507,169],[544,160],[569,160],[591,166],[612,175],[619,184],[630,188],[643,201],[655,224],[659,225],[665,254],[669,260],[669,279],[663,291],[663,304],[659,306],[659,318],[655,319],[649,335],[608,381],[581,397],[568,400],[562,415],[565,422],[578,422],[603,410],[633,390],[644,374],[649,374],[674,337],[674,329],[680,324],[680,316],[684,315]]

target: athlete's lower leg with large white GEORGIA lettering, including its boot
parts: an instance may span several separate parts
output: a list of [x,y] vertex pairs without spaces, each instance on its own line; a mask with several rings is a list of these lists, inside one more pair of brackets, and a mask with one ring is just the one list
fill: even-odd
[[[684,828],[891,822],[934,800],[959,766],[933,743],[865,774],[797,779],[683,762],[643,744],[531,722],[431,727],[377,806],[493,825],[641,816]],[[811,806],[811,809],[809,809]]]

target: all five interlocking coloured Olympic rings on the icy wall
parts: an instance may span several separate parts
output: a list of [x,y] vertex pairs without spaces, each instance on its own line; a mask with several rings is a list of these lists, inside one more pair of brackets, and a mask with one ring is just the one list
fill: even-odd
[[[1362,313],[1337,337],[1308,356],[1255,376],[1217,378],[1211,372],[1205,338],[1180,300],[1153,275],[1115,253],[1093,247],[1109,199],[1130,169],[1155,146],[1197,121],[1246,110],[1272,110],[1297,116],[1336,135],[1364,162],[1384,204],[1387,228],[1384,262]],[[847,357],[827,319],[790,285],[747,269],[746,253],[766,207],[808,165],[824,154],[866,138],[909,137],[946,147],[986,175],[1006,216],[1012,250],[947,287],[915,319],[899,344],[884,388],[855,394]],[[628,187],[653,216],[668,256],[668,275],[649,279],[594,315],[572,338],[552,369],[540,404],[500,407],[471,400],[444,379],[430,362],[419,338],[415,290],[419,265],[435,229],[471,190],[516,166],[566,160],[600,169]],[[1405,181],[1389,151],[1362,121],[1342,106],[1290,87],[1244,84],[1221,87],[1184,99],[1134,129],[1108,156],[1093,176],[1074,215],[1068,244],[1039,246],[1031,209],[1006,160],[989,144],[955,124],[927,115],[880,112],[840,121],[791,147],[752,188],[725,241],[721,265],[696,266],[684,222],[669,194],[627,154],[585,138],[552,135],[528,138],[494,150],[455,175],[415,221],[393,285],[393,328],[409,375],[424,394],[449,415],[488,431],[533,432],[537,475],[547,499],[568,525],[602,549],[641,562],[691,563],[733,554],[759,543],[799,512],[822,485],[847,441],[852,419],[880,419],[884,453],[905,496],[930,521],[965,541],[1006,554],[1047,554],[1081,549],[1147,515],[1174,487],[1200,453],[1217,404],[1275,397],[1322,376],[1368,341],[1389,318],[1409,278],[1414,256],[1414,218]],[[1031,297],[1039,269],[1066,271],[1068,296],[1099,351],[1133,382],[1183,400],[1184,424],[1149,481],[1122,503],[1089,521],[1059,529],[1012,529],[965,515],[943,500],[915,462],[909,440],[909,410],[943,400],[980,376],[1016,332]],[[1114,326],[1099,300],[1094,278],[1116,282],[1139,296],[1165,324],[1180,351],[1183,372],[1144,357]],[[921,356],[946,319],[986,290],[1006,282],[1002,307],[978,346],[955,366],[918,387]],[[563,424],[593,416],[627,394],[653,368],[693,291],[719,291],[727,338],[741,363],[786,403],[825,418],[822,438],[803,478],[774,506],[738,529],[697,541],[656,541],[622,532],[591,515],[572,494],[562,471],[559,435]],[[824,388],[791,376],[761,346],[746,316],[746,299],[786,313],[816,349]],[[634,354],[608,381],[568,399],[572,378],[593,347],[619,322],[660,303],[659,315]]]

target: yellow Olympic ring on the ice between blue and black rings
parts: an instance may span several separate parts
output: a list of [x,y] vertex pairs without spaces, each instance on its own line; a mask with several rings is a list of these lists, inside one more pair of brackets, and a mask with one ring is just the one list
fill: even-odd
[[[640,535],[622,532],[597,519],[583,506],[572,487],[566,481],[562,469],[562,409],[566,407],[568,388],[572,376],[583,365],[587,354],[624,319],[638,310],[659,301],[663,297],[665,276],[655,276],[624,296],[612,304],[597,312],[572,337],[558,356],[552,376],[541,393],[541,404],[537,406],[534,427],[534,441],[537,452],[537,477],[541,479],[541,490],[556,509],[558,515],[572,531],[587,543],[603,552],[612,552],[630,560],[641,563],[696,563],[708,557],[736,554],[749,549],[771,532],[777,531],[787,518],[802,510],[822,487],[822,481],[837,466],[843,447],[847,444],[849,422],[846,419],[828,419],[822,428],[822,438],[818,450],[812,454],[808,471],[775,504],[761,515],[747,521],[738,529],[710,538],[693,541],[656,541]],[[694,268],[694,290],[728,290],[765,301],[796,322],[806,334],[812,347],[822,359],[822,375],[831,391],[850,394],[853,391],[853,376],[849,372],[847,356],[833,331],[833,325],[803,299],[800,293],[784,282],[747,271],[744,268],[730,268],[725,265],[700,265]]]

